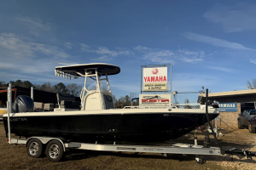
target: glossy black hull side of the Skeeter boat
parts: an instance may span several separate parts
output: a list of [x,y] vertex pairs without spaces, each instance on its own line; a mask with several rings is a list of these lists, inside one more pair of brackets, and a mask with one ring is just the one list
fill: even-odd
[[[218,116],[209,114],[210,120]],[[3,117],[8,133],[7,117]],[[206,114],[88,114],[10,117],[11,133],[18,136],[62,137],[76,141],[129,140],[162,141],[177,139],[207,123]]]

